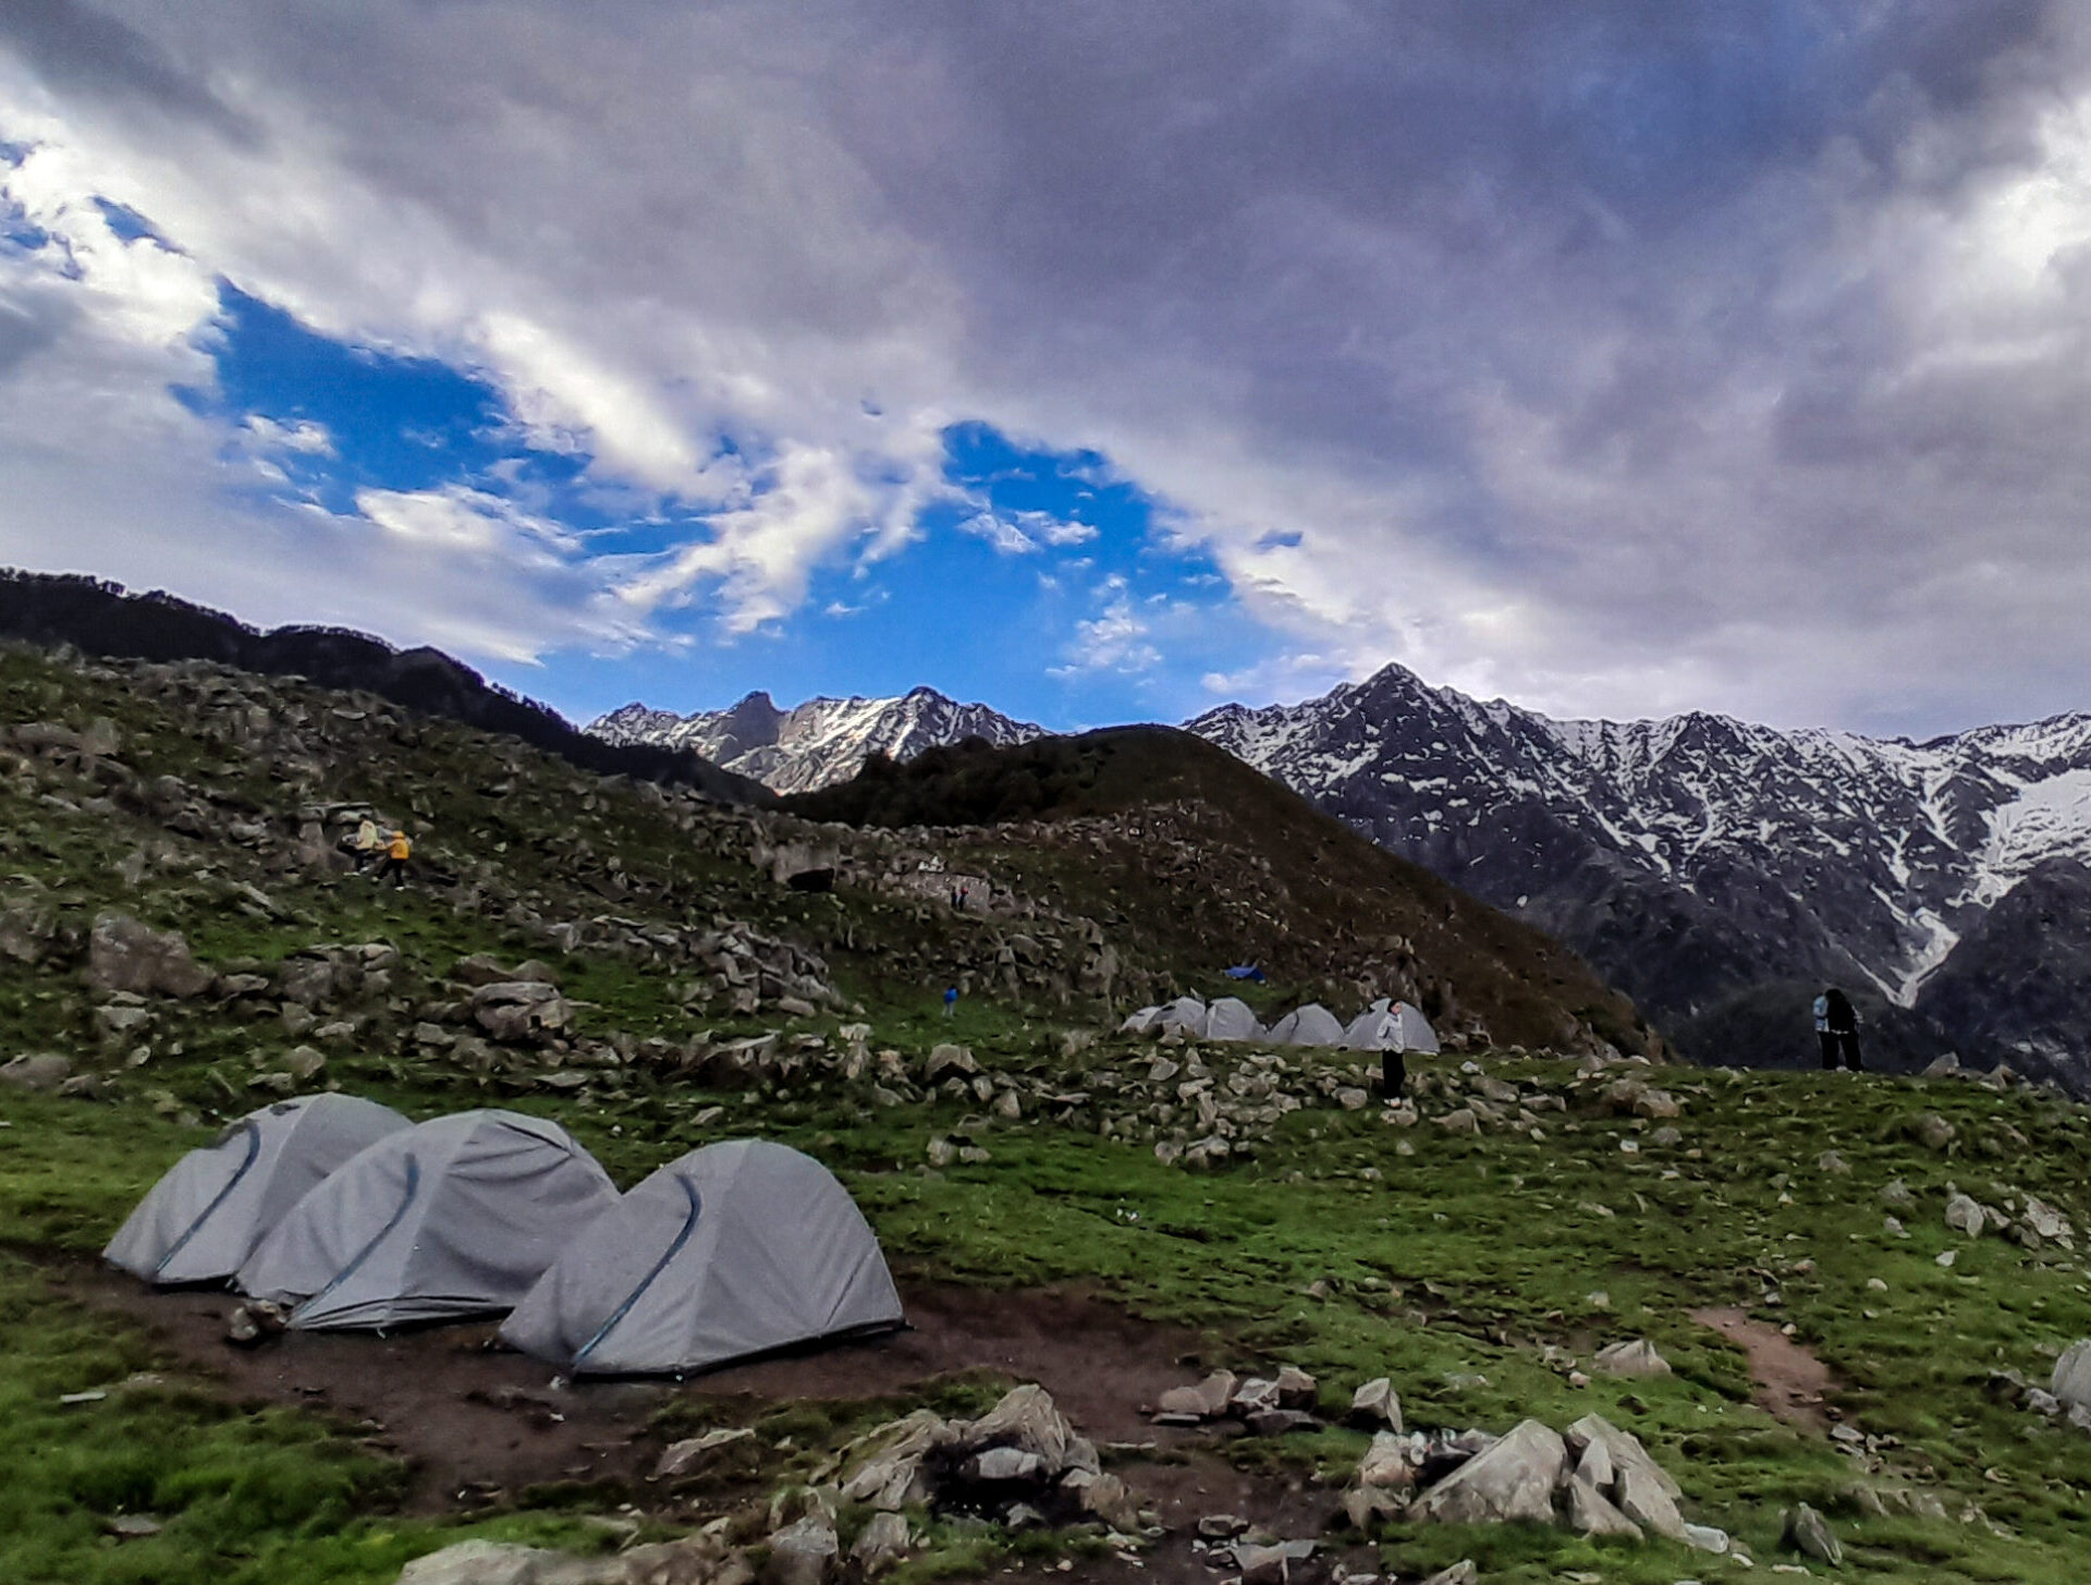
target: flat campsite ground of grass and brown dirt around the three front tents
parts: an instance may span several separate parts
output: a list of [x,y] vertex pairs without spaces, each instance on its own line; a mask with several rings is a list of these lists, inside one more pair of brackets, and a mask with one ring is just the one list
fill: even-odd
[[[1043,1060],[1020,1029],[976,1050],[987,1066]],[[1150,1052],[1106,1043],[1083,1060],[1144,1066]],[[1598,1409],[1677,1474],[1692,1518],[1731,1531],[1761,1564],[1782,1560],[1779,1510],[1811,1501],[1859,1577],[2074,1577],[2091,1437],[1993,1401],[1986,1378],[2016,1368],[2039,1380],[2060,1345],[2091,1332],[2083,1259],[1966,1240],[1940,1213],[1957,1181],[1984,1200],[2037,1194],[2091,1225],[2081,1108],[1966,1081],[1677,1071],[1679,1138],[1658,1146],[1644,1119],[1593,1106],[1564,1062],[1480,1066],[1570,1110],[1543,1140],[1301,1110],[1269,1150],[1200,1175],[1052,1121],[976,1135],[987,1163],[924,1169],[928,1140],[962,1119],[956,1102],[882,1110],[836,1092],[719,1094],[732,1123],[713,1129],[523,1102],[569,1123],[621,1181],[728,1131],[822,1152],[905,1273],[916,1319],[882,1345],[579,1395],[554,1391],[531,1361],[481,1351],[483,1328],[226,1349],[224,1299],[144,1294],[88,1261],[205,1129],[144,1106],[8,1096],[0,1219],[17,1236],[0,1292],[19,1342],[0,1357],[0,1414],[17,1428],[0,1447],[0,1575],[389,1581],[462,1533],[600,1547],[636,1520],[671,1535],[803,1476],[878,1418],[922,1401],[970,1409],[1004,1382],[1041,1380],[1100,1441],[1154,1443],[1115,1455],[1177,1524],[1140,1577],[1209,1577],[1184,1547],[1188,1520],[1240,1510],[1284,1535],[1322,1535],[1363,1434],[1161,1432],[1140,1407],[1211,1365],[1296,1361],[1330,1409],[1391,1374],[1414,1426],[1506,1430]],[[416,1115],[483,1100],[404,1092],[381,1064],[358,1073],[351,1060],[339,1077]],[[1926,1115],[1955,1127],[1945,1152],[1915,1138]],[[1819,1165],[1823,1152],[1848,1171]],[[1890,1179],[1920,1207],[1905,1213],[1907,1238],[1884,1227]],[[1934,1259],[1947,1250],[1951,1267]],[[1830,1372],[1828,1403],[1802,1405],[1794,1424],[1759,1407],[1771,1382],[1752,1382],[1750,1357],[1694,1319],[1706,1307],[1782,1338],[1792,1326],[1790,1349]],[[1593,1345],[1625,1336],[1654,1338],[1675,1374],[1570,1380],[1568,1361],[1587,1365]],[[59,1403],[79,1391],[109,1397]],[[644,1480],[667,1439],[721,1424],[755,1426],[744,1455],[690,1487]],[[1840,1451],[1832,1424],[1857,1426],[1874,1451]],[[1915,1512],[1899,1493],[1915,1493]],[[140,1512],[165,1529],[107,1533]],[[1050,1568],[1060,1549],[962,1520],[930,1520],[928,1537],[912,1577],[979,1577],[1027,1558]],[[1081,1577],[1131,1575],[1073,1545]],[[1742,1577],[1667,1543],[1518,1526],[1382,1535],[1401,1579],[1460,1556],[1485,1579]]]

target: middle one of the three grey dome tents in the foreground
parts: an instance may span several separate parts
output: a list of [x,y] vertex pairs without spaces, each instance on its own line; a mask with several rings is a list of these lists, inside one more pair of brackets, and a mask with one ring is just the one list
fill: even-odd
[[617,1204],[556,1123],[483,1110],[389,1133],[297,1202],[238,1271],[291,1326],[441,1322],[510,1309]]

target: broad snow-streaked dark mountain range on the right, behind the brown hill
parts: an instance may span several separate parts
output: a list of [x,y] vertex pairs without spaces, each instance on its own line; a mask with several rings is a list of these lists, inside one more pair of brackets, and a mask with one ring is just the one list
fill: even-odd
[[2091,974],[2081,995],[2043,983],[2037,1012],[1970,983],[1976,960],[2043,956],[2068,979],[2055,933],[2091,943],[2072,880],[2091,862],[2091,715],[1932,742],[1700,713],[1556,721],[1386,667],[1188,726],[1554,931],[1687,1050],[1784,1050],[1792,1031],[1761,1014],[1834,981],[1878,993],[1890,1046],[2091,1058]]

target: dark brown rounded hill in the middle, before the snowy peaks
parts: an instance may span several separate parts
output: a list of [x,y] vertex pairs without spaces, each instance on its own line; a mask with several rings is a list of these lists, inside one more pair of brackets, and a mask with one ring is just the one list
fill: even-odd
[[1112,728],[874,759],[784,801],[864,830],[935,832],[951,864],[1052,899],[1089,895],[1115,941],[1179,979],[1259,964],[1338,1002],[1395,995],[1455,1046],[1656,1050],[1625,997],[1558,943],[1395,857],[1171,728]]

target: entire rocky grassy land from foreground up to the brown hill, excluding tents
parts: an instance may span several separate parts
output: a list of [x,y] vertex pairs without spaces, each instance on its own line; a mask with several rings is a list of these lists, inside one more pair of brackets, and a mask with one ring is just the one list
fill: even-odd
[[[364,813],[404,887],[339,853]],[[1102,1027],[1244,947],[1269,1002],[1437,995],[1455,1050],[1384,1104],[1355,1054]],[[2091,1115],[1648,1064],[1585,995],[1186,734],[740,809],[0,646],[0,1579],[2078,1579]],[[184,1150],[330,1085],[558,1121],[619,1186],[790,1144],[912,1328],[590,1384],[96,1265]]]

